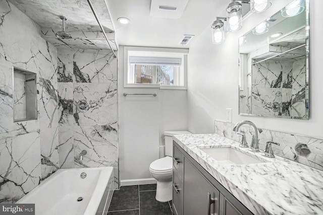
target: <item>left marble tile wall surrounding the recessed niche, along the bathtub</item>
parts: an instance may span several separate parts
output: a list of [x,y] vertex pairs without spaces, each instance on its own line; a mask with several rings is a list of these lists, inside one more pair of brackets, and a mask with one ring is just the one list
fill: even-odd
[[[59,168],[58,58],[40,27],[6,0],[0,17],[0,202],[15,202]],[[13,122],[12,66],[37,74],[37,120]]]

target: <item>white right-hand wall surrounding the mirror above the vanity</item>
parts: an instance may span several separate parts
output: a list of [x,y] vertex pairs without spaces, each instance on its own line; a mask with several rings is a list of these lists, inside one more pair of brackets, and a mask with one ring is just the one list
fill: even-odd
[[214,120],[225,120],[226,108],[233,109],[233,123],[251,120],[258,127],[323,138],[323,1],[310,1],[310,119],[279,119],[238,114],[238,37],[275,14],[291,0],[274,0],[267,11],[251,14],[236,33],[226,33],[220,45],[211,42],[210,28],[196,38],[188,55],[188,129],[213,133]]

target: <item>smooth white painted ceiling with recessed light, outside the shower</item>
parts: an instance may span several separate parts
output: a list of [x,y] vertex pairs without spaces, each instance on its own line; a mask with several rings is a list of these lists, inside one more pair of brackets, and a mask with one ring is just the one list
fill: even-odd
[[[179,19],[150,16],[150,2],[107,0],[119,45],[189,48],[198,35],[210,28],[217,16],[226,15],[231,0],[189,0]],[[127,17],[130,24],[118,23],[119,17]],[[187,45],[179,45],[184,34],[195,37]]]

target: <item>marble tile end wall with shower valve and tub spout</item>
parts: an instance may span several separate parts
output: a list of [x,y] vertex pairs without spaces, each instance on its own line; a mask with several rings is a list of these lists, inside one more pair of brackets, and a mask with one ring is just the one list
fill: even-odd
[[[117,189],[117,59],[109,50],[60,47],[58,58],[61,168],[112,166]],[[76,108],[80,100],[88,101],[88,111]]]

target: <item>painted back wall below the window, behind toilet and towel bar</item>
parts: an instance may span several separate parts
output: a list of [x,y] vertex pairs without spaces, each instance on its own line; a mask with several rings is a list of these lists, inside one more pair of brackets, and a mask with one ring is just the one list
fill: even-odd
[[[149,165],[159,158],[165,130],[187,130],[187,91],[124,88],[124,47],[119,47],[118,110],[120,180],[151,178]],[[123,96],[123,93],[157,96]]]

